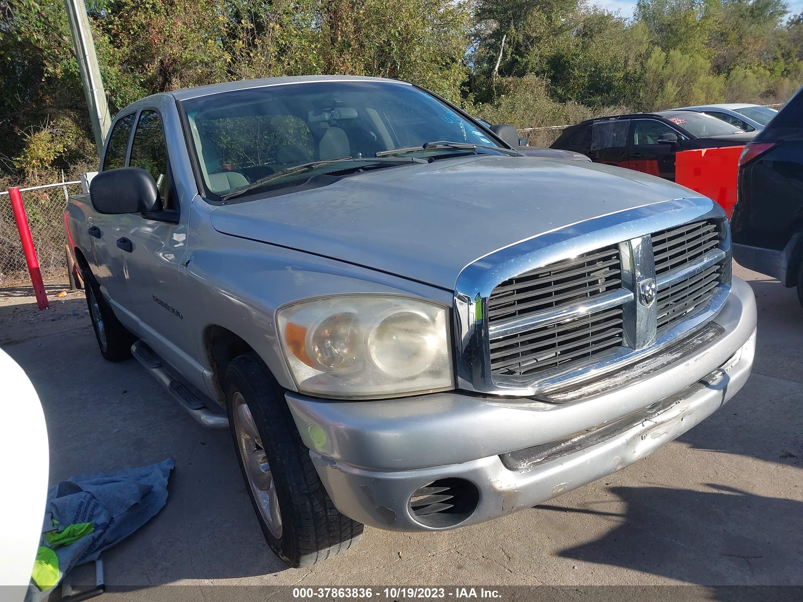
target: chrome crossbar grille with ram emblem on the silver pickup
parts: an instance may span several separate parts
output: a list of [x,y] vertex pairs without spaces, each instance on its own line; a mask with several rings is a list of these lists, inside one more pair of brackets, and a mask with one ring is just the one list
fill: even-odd
[[649,348],[724,282],[724,228],[675,226],[499,283],[486,306],[492,377],[532,380]]

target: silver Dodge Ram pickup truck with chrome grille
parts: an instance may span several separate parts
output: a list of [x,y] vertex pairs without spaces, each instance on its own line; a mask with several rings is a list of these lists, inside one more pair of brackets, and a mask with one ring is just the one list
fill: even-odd
[[229,428],[294,566],[650,454],[752,367],[718,205],[524,157],[410,83],[221,83],[124,108],[67,231],[100,352]]

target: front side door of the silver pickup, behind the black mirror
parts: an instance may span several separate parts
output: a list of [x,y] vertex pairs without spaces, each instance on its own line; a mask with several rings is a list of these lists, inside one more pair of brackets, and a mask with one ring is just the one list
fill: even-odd
[[124,216],[121,235],[128,294],[139,331],[158,355],[185,374],[197,364],[183,310],[190,299],[181,291],[179,265],[186,249],[190,201],[178,198],[162,128],[161,114],[143,109],[131,144],[128,165],[145,169],[157,182],[162,209]]

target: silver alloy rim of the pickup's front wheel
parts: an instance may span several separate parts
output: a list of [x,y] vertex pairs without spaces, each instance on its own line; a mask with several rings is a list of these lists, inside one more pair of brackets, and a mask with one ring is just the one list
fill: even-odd
[[276,495],[271,466],[267,462],[267,454],[262,445],[262,437],[243,394],[235,392],[232,403],[234,432],[237,434],[238,452],[246,469],[248,486],[251,487],[259,507],[259,514],[262,515],[268,530],[279,539],[282,536],[282,515],[279,511],[279,498]]

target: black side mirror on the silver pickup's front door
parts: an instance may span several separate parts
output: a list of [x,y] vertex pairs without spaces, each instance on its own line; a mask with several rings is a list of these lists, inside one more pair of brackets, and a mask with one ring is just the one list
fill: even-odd
[[141,167],[100,172],[89,183],[89,200],[99,214],[138,214],[161,209],[156,182]]

